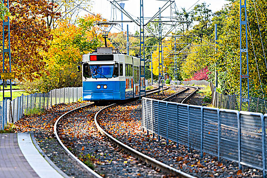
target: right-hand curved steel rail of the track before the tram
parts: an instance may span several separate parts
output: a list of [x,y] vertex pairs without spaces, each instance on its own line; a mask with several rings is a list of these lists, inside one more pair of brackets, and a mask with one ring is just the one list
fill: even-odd
[[190,175],[190,174],[187,174],[185,172],[182,172],[178,169],[175,169],[167,164],[164,164],[162,162],[159,162],[157,161],[156,159],[154,158],[151,158],[141,152],[138,152],[137,150],[135,149],[132,149],[130,146],[122,143],[121,141],[117,140],[116,138],[114,138],[113,136],[111,136],[109,133],[105,132],[101,127],[100,125],[97,123],[97,116],[100,112],[102,112],[103,110],[107,109],[107,108],[110,108],[110,107],[114,107],[116,105],[115,104],[111,104],[109,106],[106,106],[104,108],[102,108],[101,110],[99,110],[96,114],[95,114],[95,118],[94,118],[94,122],[95,122],[95,125],[97,127],[97,129],[99,130],[99,132],[106,136],[110,141],[112,141],[113,143],[117,144],[121,149],[123,149],[124,151],[130,153],[131,155],[145,161],[146,163],[150,164],[150,165],[153,165],[167,173],[174,173],[176,175],[178,175],[178,177],[188,177],[188,178],[193,178],[194,176]]

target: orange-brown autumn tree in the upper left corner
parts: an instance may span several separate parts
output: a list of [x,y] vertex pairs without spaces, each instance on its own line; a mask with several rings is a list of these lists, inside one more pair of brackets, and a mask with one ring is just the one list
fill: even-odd
[[[44,73],[45,62],[40,51],[47,51],[47,41],[51,40],[45,18],[57,16],[52,12],[52,7],[43,0],[11,0],[9,6],[12,71],[16,73],[18,80],[32,81]],[[5,46],[8,46],[7,39],[8,33],[5,33]],[[5,57],[5,70],[9,71],[8,56]]]

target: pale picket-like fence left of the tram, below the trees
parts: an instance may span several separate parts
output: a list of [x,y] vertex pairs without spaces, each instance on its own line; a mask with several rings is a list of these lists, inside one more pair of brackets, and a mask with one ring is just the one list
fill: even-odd
[[82,97],[82,87],[66,87],[51,90],[46,94],[20,96],[14,100],[0,102],[0,129],[4,130],[7,123],[17,122],[24,114],[36,110],[48,109],[60,103],[76,102]]

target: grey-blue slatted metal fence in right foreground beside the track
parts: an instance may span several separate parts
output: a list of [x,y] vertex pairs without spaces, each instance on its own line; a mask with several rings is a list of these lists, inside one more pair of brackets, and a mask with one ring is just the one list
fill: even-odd
[[266,177],[267,114],[142,99],[142,127],[153,134],[263,170]]

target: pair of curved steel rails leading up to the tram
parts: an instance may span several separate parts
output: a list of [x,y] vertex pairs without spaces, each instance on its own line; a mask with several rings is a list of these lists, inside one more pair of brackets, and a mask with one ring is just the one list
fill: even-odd
[[[152,93],[156,93],[156,92],[157,92],[156,90],[157,90],[157,89],[155,89],[155,92],[152,92]],[[185,92],[186,90],[188,90],[188,89],[186,89],[186,87],[185,87],[185,90],[183,90],[183,91],[180,92],[180,93],[183,93],[183,92]],[[180,94],[180,93],[179,93],[179,94]],[[177,94],[174,95],[174,96],[177,96]],[[192,95],[190,95],[189,97],[191,97],[191,96],[192,96]],[[172,96],[172,97],[173,97],[173,96]],[[145,161],[146,163],[149,163],[149,164],[151,164],[151,165],[153,165],[153,166],[155,166],[155,167],[157,167],[157,168],[160,168],[160,169],[162,169],[163,171],[165,171],[165,172],[167,172],[167,173],[172,173],[172,174],[175,174],[175,175],[177,175],[177,176],[179,176],[179,177],[193,177],[193,176],[191,176],[191,175],[189,175],[189,174],[186,174],[186,173],[184,173],[184,172],[181,172],[181,171],[178,170],[178,169],[175,169],[175,168],[173,168],[173,167],[171,167],[171,166],[168,166],[168,165],[166,165],[166,164],[163,164],[163,163],[161,163],[161,162],[159,162],[159,161],[157,161],[157,160],[155,160],[155,159],[153,159],[153,158],[150,158],[150,157],[148,157],[148,156],[146,156],[146,155],[144,155],[144,154],[142,154],[142,153],[140,153],[140,152],[138,152],[138,151],[132,149],[131,147],[129,147],[129,146],[123,144],[122,142],[118,141],[116,138],[114,138],[114,137],[112,137],[111,135],[109,135],[108,133],[106,133],[106,132],[99,126],[99,124],[97,123],[97,116],[98,116],[98,114],[99,114],[101,111],[103,111],[104,109],[109,108],[109,107],[112,107],[112,106],[114,106],[114,105],[116,105],[116,104],[112,104],[112,105],[109,105],[109,106],[107,106],[107,107],[104,107],[104,108],[98,110],[98,112],[94,115],[94,122],[95,122],[95,124],[96,124],[96,126],[97,126],[97,129],[98,129],[102,134],[104,134],[109,140],[111,140],[112,142],[114,142],[115,144],[117,144],[121,149],[123,149],[123,150],[126,151],[127,153],[130,153],[131,155],[134,155],[134,156],[138,157],[139,159],[142,159],[142,160]],[[61,117],[59,117],[58,120],[56,121],[56,123],[55,123],[55,125],[54,125],[54,132],[55,132],[55,135],[56,135],[58,141],[60,142],[60,144],[61,144],[62,147],[64,148],[64,150],[65,150],[69,155],[71,155],[71,157],[73,157],[79,164],[81,164],[81,165],[84,166],[88,171],[90,171],[91,174],[92,174],[92,176],[94,176],[94,177],[102,177],[102,176],[100,176],[99,174],[97,174],[96,172],[94,172],[92,169],[90,169],[90,168],[89,168],[87,165],[85,165],[81,160],[79,160],[79,159],[77,158],[77,156],[73,155],[73,154],[69,151],[69,148],[66,147],[66,146],[63,144],[63,141],[60,139],[60,136],[59,136],[59,134],[58,134],[58,129],[57,129],[57,125],[58,125],[58,123],[63,119],[63,117],[67,117],[68,115],[70,115],[71,113],[73,113],[73,112],[75,112],[75,111],[79,111],[79,110],[85,109],[85,108],[87,108],[87,107],[92,107],[92,106],[94,106],[94,104],[90,104],[90,105],[86,105],[86,106],[83,106],[83,107],[79,107],[79,108],[76,108],[76,109],[74,109],[74,110],[71,110],[71,111],[69,111],[69,112],[63,114],[63,115],[62,115]],[[63,121],[62,121],[62,122],[63,122]],[[84,149],[84,147],[83,147],[83,149]],[[82,150],[83,150],[83,149],[82,149]],[[100,151],[101,151],[101,150],[100,150]],[[76,154],[76,155],[77,155],[77,154]],[[80,158],[80,159],[81,159],[81,158]],[[127,162],[127,161],[126,161],[126,162]],[[124,163],[125,163],[125,161],[124,161]],[[139,165],[139,164],[138,164],[138,165]],[[128,166],[127,166],[127,167],[128,167]],[[137,166],[137,167],[141,167],[141,166]],[[145,169],[147,169],[147,168],[145,168]],[[102,174],[102,175],[103,175],[103,174]],[[140,176],[140,175],[138,174],[138,176]]]

